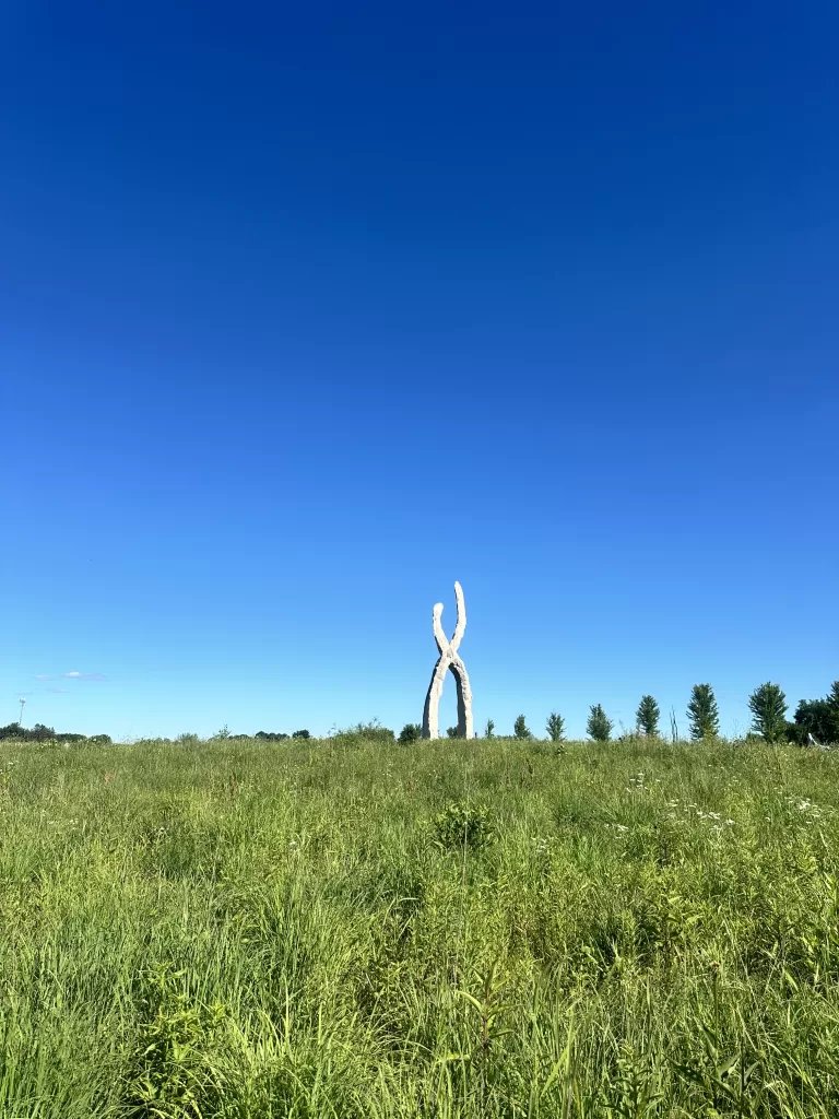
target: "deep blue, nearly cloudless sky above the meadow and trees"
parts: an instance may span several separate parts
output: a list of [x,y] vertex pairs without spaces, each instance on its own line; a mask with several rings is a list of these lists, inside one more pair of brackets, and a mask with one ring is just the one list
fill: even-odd
[[398,730],[455,579],[477,726],[839,677],[835,3],[0,44],[0,724]]

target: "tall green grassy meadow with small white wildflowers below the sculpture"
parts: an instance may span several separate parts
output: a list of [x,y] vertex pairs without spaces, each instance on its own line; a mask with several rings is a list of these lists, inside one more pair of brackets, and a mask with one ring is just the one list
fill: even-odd
[[838,822],[794,747],[6,742],[0,1116],[836,1117]]

